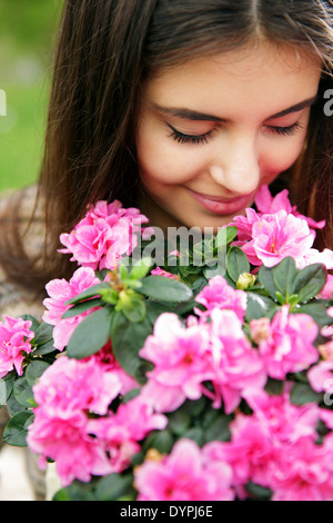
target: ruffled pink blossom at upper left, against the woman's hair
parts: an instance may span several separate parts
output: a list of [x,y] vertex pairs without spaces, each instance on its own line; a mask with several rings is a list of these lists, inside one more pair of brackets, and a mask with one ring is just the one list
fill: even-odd
[[[148,218],[139,209],[124,209],[120,201],[98,201],[60,241],[72,254],[71,260],[93,269],[114,269],[123,255],[131,255],[138,245],[137,233],[143,234]],[[145,231],[147,233],[147,231]]]

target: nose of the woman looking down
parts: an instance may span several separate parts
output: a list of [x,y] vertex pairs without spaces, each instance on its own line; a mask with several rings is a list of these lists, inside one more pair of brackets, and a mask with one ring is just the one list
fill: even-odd
[[236,195],[250,195],[260,182],[259,152],[255,137],[249,132],[233,136],[218,151],[210,164],[210,175],[224,189]]

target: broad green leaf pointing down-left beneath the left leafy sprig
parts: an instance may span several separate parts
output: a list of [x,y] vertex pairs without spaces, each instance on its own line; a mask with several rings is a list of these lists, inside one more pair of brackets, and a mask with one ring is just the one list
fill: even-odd
[[69,341],[68,356],[80,359],[100,351],[110,339],[112,314],[112,309],[103,307],[87,316]]

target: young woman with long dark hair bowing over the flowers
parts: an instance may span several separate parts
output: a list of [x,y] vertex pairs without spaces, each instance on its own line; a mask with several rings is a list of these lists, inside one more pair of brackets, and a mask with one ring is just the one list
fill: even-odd
[[73,272],[59,235],[99,199],[163,228],[218,227],[262,184],[326,219],[316,246],[331,248],[332,26],[331,0],[68,0],[36,207],[43,249],[24,255],[16,203],[8,278],[42,293]]

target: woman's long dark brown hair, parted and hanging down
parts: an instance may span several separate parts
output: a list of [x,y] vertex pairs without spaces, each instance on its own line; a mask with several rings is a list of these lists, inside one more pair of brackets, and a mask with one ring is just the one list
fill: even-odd
[[[135,129],[147,78],[160,68],[250,45],[259,36],[321,59],[307,147],[285,179],[301,211],[327,220],[317,246],[332,247],[333,118],[323,110],[324,92],[333,88],[332,26],[332,0],[68,0],[38,189],[44,250],[31,259],[22,248],[13,256],[10,245],[2,246],[8,276],[18,280],[19,272],[22,285],[43,290],[49,279],[73,272],[73,264],[57,254],[59,236],[73,228],[88,205],[99,199],[135,205]],[[22,244],[14,224],[2,238],[11,238],[18,253]]]

